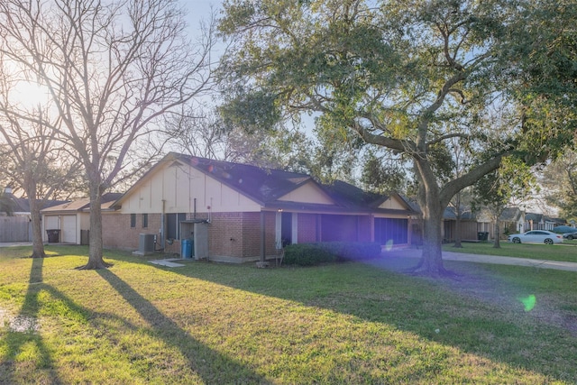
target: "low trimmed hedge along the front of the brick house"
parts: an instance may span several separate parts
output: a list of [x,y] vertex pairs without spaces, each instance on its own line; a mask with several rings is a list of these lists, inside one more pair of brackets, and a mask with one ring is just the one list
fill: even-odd
[[290,244],[285,248],[284,263],[314,266],[335,261],[362,261],[380,255],[379,243],[330,242]]

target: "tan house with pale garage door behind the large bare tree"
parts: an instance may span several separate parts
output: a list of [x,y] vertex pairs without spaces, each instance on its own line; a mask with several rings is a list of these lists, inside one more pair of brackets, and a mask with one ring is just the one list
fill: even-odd
[[[122,194],[106,193],[102,196],[105,212]],[[42,241],[49,243],[88,244],[90,230],[90,199],[82,198],[41,210]]]

